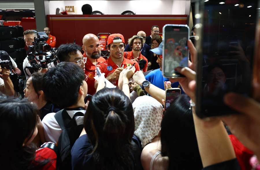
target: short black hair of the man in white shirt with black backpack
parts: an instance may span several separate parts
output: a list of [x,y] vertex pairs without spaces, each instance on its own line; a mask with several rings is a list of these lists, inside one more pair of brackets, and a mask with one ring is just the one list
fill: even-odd
[[43,76],[45,98],[62,108],[76,104],[84,77],[84,71],[77,64],[59,63]]

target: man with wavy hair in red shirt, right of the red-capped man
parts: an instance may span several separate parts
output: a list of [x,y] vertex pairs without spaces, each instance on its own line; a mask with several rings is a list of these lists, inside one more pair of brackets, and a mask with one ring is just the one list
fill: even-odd
[[[132,48],[132,51],[124,52],[124,57],[130,60],[137,61],[139,67],[143,72],[147,71],[148,60],[141,54],[141,47],[144,45],[145,40],[141,36],[133,36],[129,38],[128,44]],[[143,61],[142,61],[143,60]]]

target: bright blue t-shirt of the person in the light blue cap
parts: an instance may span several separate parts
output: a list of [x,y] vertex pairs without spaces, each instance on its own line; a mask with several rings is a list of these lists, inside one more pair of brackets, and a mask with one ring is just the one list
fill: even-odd
[[[160,89],[163,90],[164,90],[164,81],[169,81],[169,79],[165,78],[162,75],[162,72],[159,68],[148,73],[145,76],[145,79],[150,81],[150,83],[152,83],[156,87],[159,87]],[[178,88],[178,86],[179,86],[179,82],[172,83],[172,88]],[[181,87],[180,89],[181,89],[181,94],[183,94],[184,92]]]

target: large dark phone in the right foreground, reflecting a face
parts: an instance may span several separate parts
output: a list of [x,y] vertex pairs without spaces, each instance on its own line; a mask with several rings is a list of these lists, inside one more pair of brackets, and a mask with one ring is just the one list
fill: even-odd
[[[196,113],[210,117],[236,113],[224,104],[224,95],[251,96],[257,21],[256,0],[200,2],[198,21]],[[202,49],[202,50],[200,50]]]

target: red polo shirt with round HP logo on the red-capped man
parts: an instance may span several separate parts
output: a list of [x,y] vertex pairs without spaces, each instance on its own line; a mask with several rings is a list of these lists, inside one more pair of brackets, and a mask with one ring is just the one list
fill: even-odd
[[[132,66],[133,63],[135,63],[135,72],[140,71],[139,65],[136,61],[126,59],[125,57],[123,57],[123,59],[124,59],[123,62],[120,64],[120,66],[118,66],[109,57],[103,63],[98,63],[96,65],[96,68],[98,67],[100,69],[101,73],[105,73],[105,78],[110,76],[117,68],[127,68],[129,66]],[[96,76],[96,69],[95,69],[95,76]],[[115,86],[118,86],[118,80],[113,81],[112,84]]]

